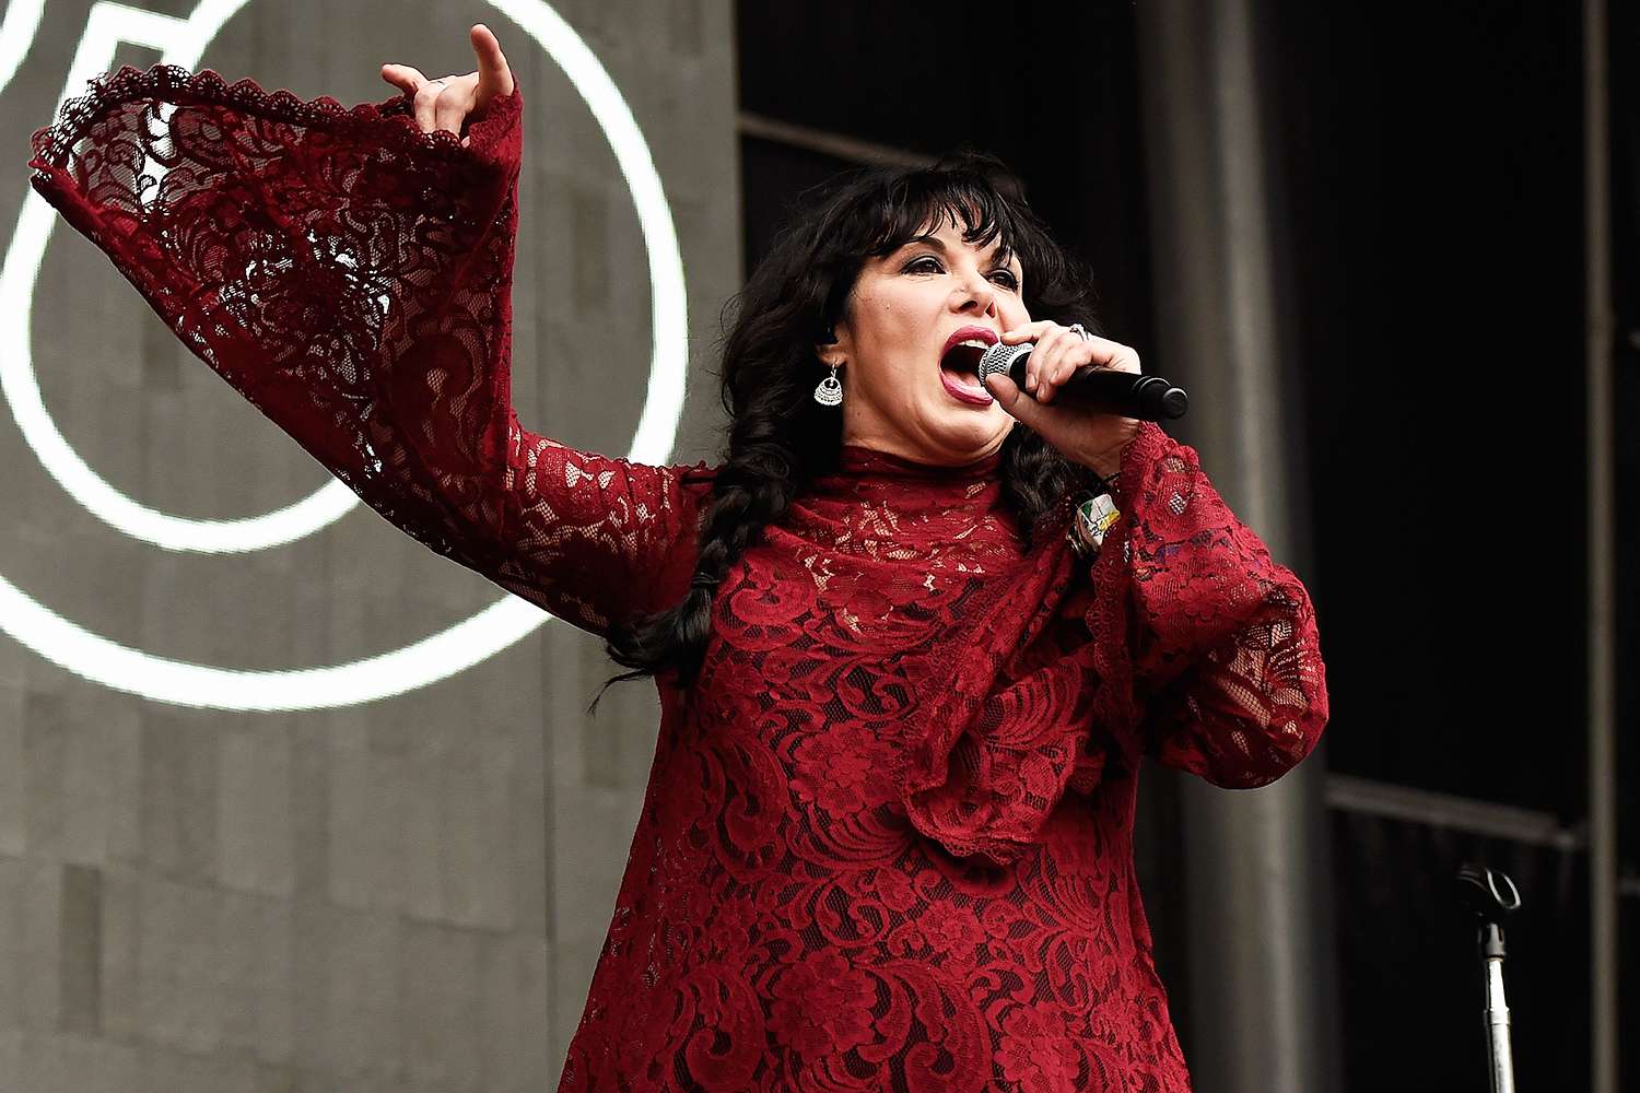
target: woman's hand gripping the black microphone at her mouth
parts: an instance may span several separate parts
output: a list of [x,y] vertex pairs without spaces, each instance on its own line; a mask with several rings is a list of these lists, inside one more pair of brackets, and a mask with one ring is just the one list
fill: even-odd
[[981,357],[979,382],[1009,415],[1104,477],[1118,470],[1140,421],[1178,418],[1189,401],[1161,377],[1141,375],[1130,346],[1046,320],[1005,331]]

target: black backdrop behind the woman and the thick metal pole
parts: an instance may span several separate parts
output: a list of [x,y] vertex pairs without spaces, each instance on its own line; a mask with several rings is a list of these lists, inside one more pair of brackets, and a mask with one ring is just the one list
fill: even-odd
[[[1612,41],[1633,41],[1633,16],[1614,15]],[[1009,161],[1097,270],[1107,333],[1168,372],[1146,352],[1132,5],[743,2],[738,29],[743,111]],[[1586,1088],[1579,5],[1274,0],[1260,31],[1278,252],[1305,370],[1292,397],[1309,424],[1299,511],[1312,524],[1297,537],[1312,549],[1301,562],[1333,708],[1317,759],[1333,775],[1530,810],[1558,828],[1517,841],[1332,811],[1346,1088],[1486,1088],[1479,965],[1450,891],[1465,860],[1522,888],[1507,965],[1522,1088]],[[1622,287],[1633,285],[1635,92],[1614,72]],[[795,144],[743,136],[748,269],[795,195],[850,166]],[[1620,320],[1633,329],[1633,308]],[[1619,420],[1637,405],[1637,344],[1622,347]],[[1451,393],[1422,395],[1437,383]],[[1625,544],[1640,531],[1632,510]],[[1622,593],[1632,605],[1632,582]],[[1625,724],[1630,711],[1625,692]],[[1632,772],[1630,760],[1624,785]],[[1151,767],[1140,870],[1189,1055],[1174,798],[1171,773]],[[1632,808],[1624,823],[1633,829]]]

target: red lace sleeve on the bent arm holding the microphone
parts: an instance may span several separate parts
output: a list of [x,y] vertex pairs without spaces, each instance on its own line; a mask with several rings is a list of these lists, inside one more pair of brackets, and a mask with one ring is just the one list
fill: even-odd
[[1145,751],[1227,788],[1274,782],[1327,724],[1309,593],[1237,519],[1196,452],[1155,424],[1123,457],[1122,498],[1128,528],[1112,564],[1127,569]]

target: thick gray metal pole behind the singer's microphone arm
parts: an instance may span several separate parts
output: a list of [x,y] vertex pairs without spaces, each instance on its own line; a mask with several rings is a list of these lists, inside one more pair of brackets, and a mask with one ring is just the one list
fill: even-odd
[[[1138,7],[1158,302],[1156,361],[1200,411],[1181,431],[1235,511],[1299,565],[1297,406],[1273,247],[1268,92],[1251,0]],[[1192,367],[1194,365],[1194,367]],[[1199,370],[1196,370],[1199,369]],[[1181,787],[1187,1062],[1200,1093],[1337,1090],[1325,757],[1263,790]]]

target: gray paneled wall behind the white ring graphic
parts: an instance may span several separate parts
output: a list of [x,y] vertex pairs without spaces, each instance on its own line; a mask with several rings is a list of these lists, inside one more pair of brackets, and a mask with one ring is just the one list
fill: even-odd
[[[136,7],[136,5],[133,5]],[[192,0],[148,0],[187,15]],[[54,0],[0,93],[0,211],[26,192],[90,0]],[[713,459],[704,369],[740,283],[731,7],[561,3],[643,126],[690,285],[690,392],[672,462]],[[382,61],[472,67],[500,36],[526,97],[515,403],[625,454],[649,361],[631,200],[567,80],[484,3],[253,0],[203,67],[343,102]],[[157,54],[123,48],[116,62]],[[8,228],[10,231],[10,228]],[[15,323],[18,316],[0,316]],[[246,516],[321,469],[189,356],[59,224],[33,356],[67,439],[113,485],[185,516]],[[595,346],[569,356],[558,346]],[[0,575],[130,647],[200,664],[335,664],[443,629],[502,593],[367,510],[289,547],[167,554],[90,516],[0,415]],[[456,677],[323,713],[134,698],[0,636],[0,1093],[541,1090],[585,1001],[654,746],[649,683],[549,623]]]

